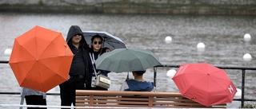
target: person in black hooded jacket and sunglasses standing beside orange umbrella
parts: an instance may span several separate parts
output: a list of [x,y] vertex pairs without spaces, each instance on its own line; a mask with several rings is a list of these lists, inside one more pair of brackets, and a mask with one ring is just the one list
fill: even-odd
[[71,25],[66,37],[74,57],[70,66],[68,80],[59,85],[62,106],[75,106],[75,90],[85,89],[85,83],[89,73],[88,60],[89,45],[82,35],[82,30],[78,25]]

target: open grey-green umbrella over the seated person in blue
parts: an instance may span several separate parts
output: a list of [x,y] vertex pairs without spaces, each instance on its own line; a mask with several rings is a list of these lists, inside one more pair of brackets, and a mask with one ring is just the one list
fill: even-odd
[[142,71],[160,65],[158,56],[146,49],[114,49],[95,61],[96,68],[112,72]]

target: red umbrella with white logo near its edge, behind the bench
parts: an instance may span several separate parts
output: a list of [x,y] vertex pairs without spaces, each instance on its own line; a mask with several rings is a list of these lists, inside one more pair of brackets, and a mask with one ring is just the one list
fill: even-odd
[[205,106],[231,103],[237,92],[224,70],[207,63],[182,64],[173,80],[183,96]]

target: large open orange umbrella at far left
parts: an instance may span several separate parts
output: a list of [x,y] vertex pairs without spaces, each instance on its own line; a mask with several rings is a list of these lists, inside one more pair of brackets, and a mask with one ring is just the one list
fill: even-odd
[[9,64],[21,87],[46,92],[67,80],[73,56],[62,33],[37,25],[15,38]]

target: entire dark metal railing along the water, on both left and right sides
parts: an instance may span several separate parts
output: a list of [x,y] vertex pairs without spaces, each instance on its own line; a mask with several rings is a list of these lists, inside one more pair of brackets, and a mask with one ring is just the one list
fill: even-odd
[[[0,64],[8,64],[8,60],[0,60]],[[179,65],[172,65],[172,64],[162,64],[154,67],[154,84],[156,85],[156,75],[157,75],[157,68],[165,67],[165,68],[179,68]],[[242,68],[242,67],[222,67],[222,66],[215,66],[217,68],[222,69],[237,69],[242,71],[242,95],[241,99],[233,99],[235,101],[241,101],[241,107],[244,107],[245,101],[256,101],[256,99],[245,99],[244,88],[245,88],[245,78],[246,78],[246,70],[254,70],[256,68]],[[20,95],[19,92],[0,92],[0,95]],[[46,95],[59,95],[58,93],[47,93]]]

